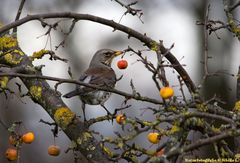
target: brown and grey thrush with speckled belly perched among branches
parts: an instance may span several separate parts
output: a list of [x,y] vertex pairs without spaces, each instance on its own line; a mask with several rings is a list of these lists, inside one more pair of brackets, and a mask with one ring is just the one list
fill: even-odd
[[[111,68],[113,59],[123,54],[123,51],[115,51],[111,49],[98,50],[89,64],[89,67],[84,71],[79,78],[79,81],[92,84],[103,88],[114,88],[117,82],[117,77],[114,70]],[[109,99],[111,93],[95,88],[77,85],[76,89],[63,95],[65,98],[79,96],[82,101],[83,118],[86,121],[85,105],[101,105],[107,112],[111,114],[104,103]]]

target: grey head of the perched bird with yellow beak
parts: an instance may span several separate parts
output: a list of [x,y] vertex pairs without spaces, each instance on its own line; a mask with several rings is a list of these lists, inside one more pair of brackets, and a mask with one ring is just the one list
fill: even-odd
[[123,51],[114,51],[111,49],[101,49],[98,50],[90,63],[90,66],[97,66],[99,64],[104,64],[107,66],[111,66],[113,58],[121,55]]

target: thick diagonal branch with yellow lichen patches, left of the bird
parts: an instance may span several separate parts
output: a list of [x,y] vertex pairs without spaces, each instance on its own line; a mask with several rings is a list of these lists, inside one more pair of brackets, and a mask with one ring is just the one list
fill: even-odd
[[[2,41],[0,51],[8,52],[8,57],[0,57],[1,64],[12,67],[12,71],[19,69],[19,71],[22,70],[31,75],[42,75],[41,70],[33,66],[30,57],[19,48],[14,36],[6,35],[0,37],[0,40]],[[11,44],[9,44],[9,40]],[[6,86],[10,79],[5,76],[4,82],[1,81],[1,86]],[[89,162],[105,163],[109,161],[107,153],[103,152],[103,146],[89,132],[88,126],[62,101],[59,92],[51,89],[43,79],[22,77],[21,80],[29,90],[28,95],[31,99],[41,105],[69,139],[76,143],[77,151],[81,152]]]

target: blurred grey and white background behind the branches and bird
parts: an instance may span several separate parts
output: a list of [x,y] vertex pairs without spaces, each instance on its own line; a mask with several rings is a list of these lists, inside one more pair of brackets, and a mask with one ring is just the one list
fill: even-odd
[[[130,3],[130,0],[122,0],[124,3]],[[232,1],[234,2],[234,1]],[[16,12],[20,0],[0,0],[0,21],[8,24],[15,19]],[[204,38],[203,27],[196,25],[196,21],[203,21],[206,12],[206,6],[211,4],[209,18],[213,20],[221,20],[226,22],[224,13],[224,6],[219,0],[139,0],[134,8],[141,9],[143,16],[142,23],[136,16],[126,15],[122,19],[122,15],[126,11],[114,1],[111,0],[26,0],[22,17],[27,14],[38,14],[48,12],[76,12],[84,14],[92,14],[106,19],[111,19],[121,24],[129,26],[141,33],[146,33],[149,37],[155,40],[163,40],[165,47],[170,47],[173,43],[174,48],[171,50],[181,64],[186,65],[185,69],[192,77],[196,85],[202,83],[203,77],[203,50]],[[238,15],[240,10],[237,9],[234,13]],[[54,23],[58,20],[48,20],[49,23]],[[26,23],[18,28],[18,41],[22,50],[31,55],[33,52],[43,48],[55,50],[57,46],[65,37],[62,31],[67,32],[71,26],[71,20],[65,19],[61,21],[56,31],[51,32],[51,37],[44,35],[47,28],[43,28],[38,21]],[[209,37],[209,60],[210,72],[221,71],[227,74],[237,74],[239,66],[239,41],[226,30],[217,32],[221,39],[212,34]],[[50,61],[48,56],[43,59],[34,61],[34,65],[45,65],[43,74],[59,78],[69,78],[68,67],[71,67],[73,77],[78,79],[81,72],[83,72],[91,60],[93,54],[102,48],[110,48],[115,50],[123,50],[128,46],[136,50],[145,50],[146,47],[136,39],[127,38],[127,35],[114,31],[107,26],[89,22],[78,21],[72,33],[67,37],[64,47],[56,50],[56,54],[60,57],[66,58],[69,62],[63,63],[61,61]],[[149,61],[156,65],[156,55],[153,52],[143,52],[144,56]],[[125,55],[124,58],[128,60],[129,66],[125,70],[119,70],[116,62],[120,59],[116,58],[112,64],[118,77],[123,75],[123,78],[117,83],[116,88],[122,91],[131,93],[130,80],[143,96],[148,96],[155,99],[160,99],[159,91],[152,81],[152,74],[146,70],[139,59],[135,55]],[[173,69],[167,69],[167,79],[170,85],[174,87],[176,96],[180,95],[179,83],[176,78],[177,73]],[[65,154],[64,151],[71,145],[71,142],[66,135],[60,131],[56,144],[62,149],[59,157],[53,158],[48,156],[47,147],[54,143],[51,127],[39,120],[52,122],[52,119],[39,105],[34,104],[28,97],[20,98],[20,93],[17,91],[15,83],[20,83],[18,79],[12,80],[9,86],[17,93],[11,94],[6,99],[3,94],[0,95],[0,119],[10,126],[15,121],[22,121],[23,127],[21,132],[33,131],[36,135],[35,141],[31,145],[23,145],[21,152],[21,162],[23,163],[63,163],[74,162],[73,154],[71,152]],[[49,82],[53,87],[55,82]],[[235,85],[236,76],[220,75],[209,78],[204,82],[201,88],[201,93],[204,94],[205,99],[217,95],[225,101],[225,108],[231,109],[235,101]],[[75,86],[71,84],[62,84],[59,86],[59,91],[62,94],[74,89]],[[187,89],[185,89],[187,97]],[[23,92],[27,92],[24,89]],[[181,99],[181,97],[179,97]],[[74,97],[71,99],[63,99],[66,104],[77,113],[81,115],[81,101]],[[106,107],[110,111],[115,108],[124,106],[124,98],[113,94],[106,102]],[[139,117],[143,112],[142,109],[147,106],[157,107],[149,103],[139,101],[128,101],[132,106],[123,112],[130,117]],[[106,112],[99,106],[87,106],[87,118],[93,118],[100,115],[105,115]],[[152,120],[153,115],[151,111],[146,111],[141,117],[142,119]],[[94,124],[91,129],[102,133],[104,136],[115,136],[114,131],[121,131],[121,127],[116,123],[101,122]],[[4,153],[8,144],[8,132],[3,126],[0,126],[0,162],[8,162],[4,158]],[[126,133],[124,133],[126,134]],[[146,134],[139,135],[134,141],[141,143],[143,147],[150,147],[150,143],[146,140]]]

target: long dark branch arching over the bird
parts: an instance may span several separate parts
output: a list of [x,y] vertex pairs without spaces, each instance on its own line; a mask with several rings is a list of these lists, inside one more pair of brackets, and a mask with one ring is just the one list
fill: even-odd
[[36,14],[36,15],[28,15],[22,19],[19,19],[15,22],[12,22],[8,25],[3,26],[2,28],[0,28],[0,34],[5,31],[8,31],[11,28],[20,26],[32,20],[41,20],[41,19],[50,19],[50,18],[71,18],[71,19],[74,18],[76,20],[89,20],[89,21],[97,22],[100,24],[113,27],[115,30],[122,31],[128,34],[129,36],[138,39],[139,41],[143,42],[151,50],[158,51],[158,49],[160,49],[161,53],[165,54],[165,57],[168,59],[168,61],[172,65],[176,65],[174,66],[174,69],[182,77],[190,93],[196,92],[196,86],[193,83],[192,79],[190,78],[186,70],[182,67],[182,65],[179,63],[179,61],[176,59],[176,57],[170,51],[168,51],[168,49],[166,49],[162,44],[159,44],[158,42],[152,40],[150,37],[147,37],[146,35],[141,34],[127,26],[116,23],[113,20],[104,19],[94,15],[77,14],[77,13],[71,13],[71,12]]

